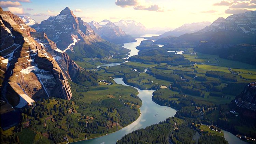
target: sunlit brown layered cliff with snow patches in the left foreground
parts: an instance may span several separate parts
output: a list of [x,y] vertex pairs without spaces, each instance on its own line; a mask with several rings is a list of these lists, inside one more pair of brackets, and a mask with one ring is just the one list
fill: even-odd
[[[22,19],[1,9],[1,99],[23,107],[49,96],[70,100],[67,78]],[[54,47],[54,43],[49,43]]]

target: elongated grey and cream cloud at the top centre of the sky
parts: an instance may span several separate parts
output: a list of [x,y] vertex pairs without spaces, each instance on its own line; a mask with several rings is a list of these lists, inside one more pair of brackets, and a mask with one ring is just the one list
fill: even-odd
[[122,8],[133,6],[134,10],[164,12],[157,4],[147,3],[145,0],[116,0],[115,4]]

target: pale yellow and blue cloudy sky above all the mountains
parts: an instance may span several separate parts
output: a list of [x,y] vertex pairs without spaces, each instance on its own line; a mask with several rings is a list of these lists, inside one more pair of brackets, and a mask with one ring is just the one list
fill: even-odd
[[1,7],[39,23],[69,7],[86,22],[124,19],[139,21],[148,29],[173,29],[255,11],[256,0],[1,0]]

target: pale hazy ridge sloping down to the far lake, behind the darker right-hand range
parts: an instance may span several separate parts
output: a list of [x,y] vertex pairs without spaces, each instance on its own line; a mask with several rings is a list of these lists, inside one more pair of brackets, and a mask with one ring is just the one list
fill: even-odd
[[200,23],[184,24],[181,27],[178,27],[174,30],[171,30],[171,31],[165,32],[159,36],[153,36],[153,37],[150,37],[147,39],[158,40],[160,38],[164,38],[164,37],[168,37],[168,36],[179,37],[180,35],[185,34],[185,33],[197,32],[197,31],[205,28],[205,26],[209,26],[211,24],[212,23],[209,21],[203,21]]

